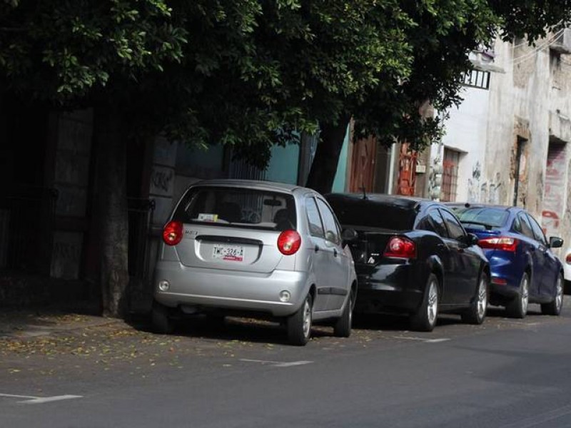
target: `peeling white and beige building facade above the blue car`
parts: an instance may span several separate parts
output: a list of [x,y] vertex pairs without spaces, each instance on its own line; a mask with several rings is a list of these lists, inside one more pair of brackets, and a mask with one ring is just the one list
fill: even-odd
[[[489,91],[465,89],[465,101],[449,112],[443,146],[463,153],[456,200],[515,203],[569,245],[571,54],[550,49],[553,40],[497,40]],[[433,193],[442,151],[435,148]]]

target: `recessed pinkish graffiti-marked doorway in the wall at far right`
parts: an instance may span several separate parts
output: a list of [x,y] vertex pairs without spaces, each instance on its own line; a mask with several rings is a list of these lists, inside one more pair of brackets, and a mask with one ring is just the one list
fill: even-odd
[[550,143],[541,213],[541,226],[547,236],[555,235],[560,226],[560,217],[565,209],[562,192],[565,189],[565,175],[565,144]]

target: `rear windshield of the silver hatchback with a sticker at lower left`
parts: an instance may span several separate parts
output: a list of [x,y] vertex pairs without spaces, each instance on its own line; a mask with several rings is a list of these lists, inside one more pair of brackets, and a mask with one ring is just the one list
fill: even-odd
[[297,226],[292,195],[240,188],[192,188],[183,196],[173,220],[264,230]]

